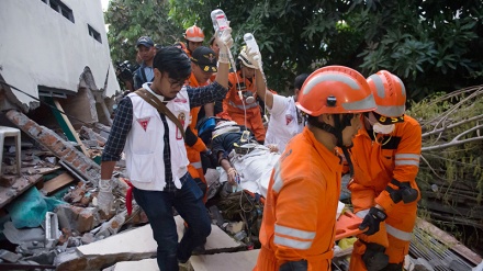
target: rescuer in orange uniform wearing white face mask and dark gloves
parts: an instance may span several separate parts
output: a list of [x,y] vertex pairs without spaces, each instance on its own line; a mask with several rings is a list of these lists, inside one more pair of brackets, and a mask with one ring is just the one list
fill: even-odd
[[353,245],[350,270],[403,269],[408,253],[417,202],[416,184],[422,128],[405,115],[406,90],[386,70],[368,78],[377,110],[366,113],[353,139],[353,179],[348,188],[355,213],[363,218]]

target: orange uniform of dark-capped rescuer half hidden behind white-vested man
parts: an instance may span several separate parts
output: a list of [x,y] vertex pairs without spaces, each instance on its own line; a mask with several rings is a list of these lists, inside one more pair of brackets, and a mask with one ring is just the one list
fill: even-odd
[[[203,87],[209,84],[210,82],[205,82],[200,84],[196,80],[196,78],[194,77],[193,72],[191,72],[190,78],[188,79],[189,81],[189,86],[193,87],[193,88],[198,88],[198,87]],[[196,123],[198,123],[198,113],[200,112],[201,106],[198,108],[193,108],[190,111],[190,118],[191,118],[191,123],[189,128],[191,128],[191,131],[193,131],[193,133],[198,136],[198,129],[196,129]],[[200,180],[206,184],[206,180],[204,179],[204,172],[203,172],[203,167],[201,163],[201,151],[204,151],[206,149],[206,145],[203,143],[203,140],[198,137],[196,143],[193,146],[188,146],[187,147],[187,155],[188,155],[188,160],[190,161],[190,165],[188,165],[188,171],[190,172],[191,177],[193,179],[195,178],[200,178]],[[206,184],[207,188],[207,184]],[[206,191],[203,191],[204,196],[206,197]],[[206,202],[206,200],[204,200],[204,202]]]

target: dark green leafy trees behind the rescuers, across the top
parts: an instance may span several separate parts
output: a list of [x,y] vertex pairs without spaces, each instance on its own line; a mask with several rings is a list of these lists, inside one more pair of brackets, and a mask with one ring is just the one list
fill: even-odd
[[269,87],[284,92],[296,74],[344,65],[364,76],[398,75],[412,100],[483,82],[483,2],[381,0],[112,0],[113,60],[134,60],[135,41],[150,35],[162,45],[182,39],[196,23],[213,34],[210,12],[225,11],[236,55],[243,34],[260,45]]

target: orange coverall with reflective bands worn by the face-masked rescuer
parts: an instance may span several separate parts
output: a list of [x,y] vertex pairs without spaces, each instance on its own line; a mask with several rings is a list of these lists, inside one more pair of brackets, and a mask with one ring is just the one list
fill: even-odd
[[[363,218],[375,204],[384,208],[387,218],[380,224],[380,230],[371,236],[361,234],[358,238],[384,246],[389,263],[398,264],[408,253],[420,199],[415,179],[419,169],[422,128],[416,120],[405,115],[404,122],[396,123],[390,135],[377,135],[377,138],[379,143],[373,142],[362,127],[352,140],[350,153],[355,172],[348,189],[351,191],[353,211],[359,217]],[[398,189],[390,184],[393,179],[408,182],[411,188],[417,190],[417,200],[394,204],[385,190],[387,185]],[[366,245],[358,240],[353,246],[349,270],[367,270],[361,258],[364,252]]]

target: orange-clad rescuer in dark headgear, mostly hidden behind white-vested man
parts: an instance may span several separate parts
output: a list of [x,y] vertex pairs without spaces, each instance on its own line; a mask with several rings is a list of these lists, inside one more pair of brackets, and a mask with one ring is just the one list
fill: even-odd
[[[216,68],[217,60],[215,53],[205,46],[200,46],[194,49],[193,55],[191,57],[191,76],[188,79],[188,84],[198,88],[209,84],[210,77],[213,72],[217,71]],[[201,163],[200,153],[205,155],[211,155],[211,150],[206,147],[203,140],[198,137],[196,123],[198,123],[198,113],[200,112],[201,106],[196,106],[191,109],[190,111],[190,126],[187,128],[187,155],[190,165],[188,166],[188,171],[194,180],[198,181],[201,191],[203,191],[204,202],[206,202],[206,190],[207,184],[204,179],[204,171]]]

